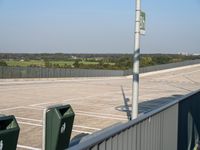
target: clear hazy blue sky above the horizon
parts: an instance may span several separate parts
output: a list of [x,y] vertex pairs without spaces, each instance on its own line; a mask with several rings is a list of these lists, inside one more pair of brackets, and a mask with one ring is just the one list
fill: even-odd
[[[200,0],[142,0],[142,53],[200,53]],[[132,53],[135,0],[0,0],[0,52]]]

